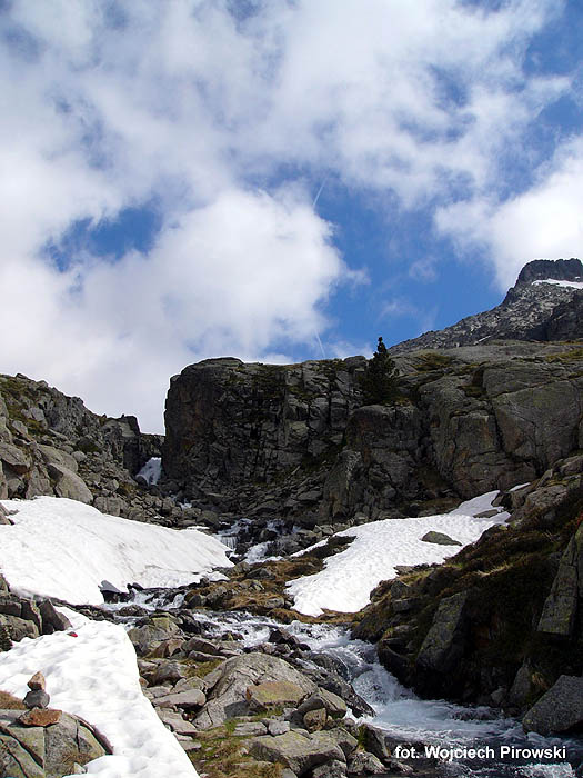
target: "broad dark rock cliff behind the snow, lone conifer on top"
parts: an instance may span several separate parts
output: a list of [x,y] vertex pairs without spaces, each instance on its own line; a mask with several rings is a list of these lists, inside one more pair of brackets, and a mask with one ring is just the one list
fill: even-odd
[[207,360],[172,380],[164,472],[201,508],[250,517],[415,515],[532,481],[574,452],[581,357],[505,341],[413,352],[398,357],[401,397],[385,406],[361,405],[360,367],[345,361]]

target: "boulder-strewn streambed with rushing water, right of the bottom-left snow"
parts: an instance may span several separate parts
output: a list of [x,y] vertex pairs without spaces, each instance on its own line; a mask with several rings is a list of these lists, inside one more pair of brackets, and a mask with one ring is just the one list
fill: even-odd
[[108,617],[125,624],[144,694],[201,776],[579,775],[581,740],[422,700],[348,625],[201,610],[184,595],[135,592]]

